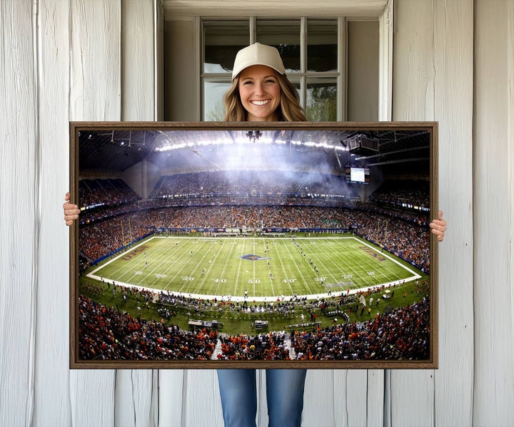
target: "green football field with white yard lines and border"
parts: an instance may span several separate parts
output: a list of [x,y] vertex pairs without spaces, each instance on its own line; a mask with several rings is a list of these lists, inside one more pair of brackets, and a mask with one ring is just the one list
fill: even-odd
[[153,236],[87,275],[186,295],[243,297],[248,291],[249,299],[343,292],[420,277],[410,264],[351,235]]

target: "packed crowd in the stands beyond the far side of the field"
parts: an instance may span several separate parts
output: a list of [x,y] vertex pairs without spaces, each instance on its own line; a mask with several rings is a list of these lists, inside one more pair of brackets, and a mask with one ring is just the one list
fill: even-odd
[[[122,180],[81,180],[81,205],[105,200],[117,205],[102,205],[82,213],[80,250],[85,257],[96,260],[156,228],[344,230],[352,227],[366,240],[428,271],[429,229],[426,218],[389,211],[387,207],[377,210],[361,205],[361,208],[354,209],[348,206],[349,199],[338,205],[341,200],[331,197],[269,195],[266,192],[286,192],[287,185],[291,191],[310,190],[311,187],[326,190],[332,180],[341,181],[342,178],[278,171],[187,173],[163,178],[159,186],[160,190],[179,191],[181,197],[148,200],[138,200],[136,193]],[[189,190],[200,190],[203,195],[199,192],[183,195]],[[227,195],[228,190],[243,193]],[[386,182],[370,198],[375,201],[408,199],[410,202],[422,202],[428,200],[428,183]],[[226,205],[218,205],[220,203]],[[346,207],[341,207],[344,205]]]

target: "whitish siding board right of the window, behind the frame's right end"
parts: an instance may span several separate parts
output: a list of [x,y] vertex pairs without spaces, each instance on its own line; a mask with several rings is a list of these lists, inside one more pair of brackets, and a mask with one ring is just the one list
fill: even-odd
[[[433,2],[395,0],[394,8],[393,120],[434,120]],[[433,374],[390,371],[388,426],[434,425]]]

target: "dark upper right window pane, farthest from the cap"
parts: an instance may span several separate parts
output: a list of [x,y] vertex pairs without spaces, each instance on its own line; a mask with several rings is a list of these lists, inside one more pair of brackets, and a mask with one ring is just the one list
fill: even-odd
[[337,71],[337,20],[308,19],[307,71]]

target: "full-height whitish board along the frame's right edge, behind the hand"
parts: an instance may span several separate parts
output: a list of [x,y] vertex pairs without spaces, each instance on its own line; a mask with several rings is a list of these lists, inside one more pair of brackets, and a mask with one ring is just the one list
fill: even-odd
[[[439,369],[435,425],[472,425],[473,400],[473,0],[434,1],[434,119],[439,122]],[[431,214],[435,217],[435,212]],[[458,302],[457,302],[458,301]],[[457,302],[457,303],[456,303]]]

